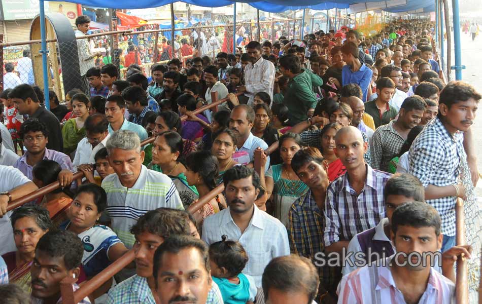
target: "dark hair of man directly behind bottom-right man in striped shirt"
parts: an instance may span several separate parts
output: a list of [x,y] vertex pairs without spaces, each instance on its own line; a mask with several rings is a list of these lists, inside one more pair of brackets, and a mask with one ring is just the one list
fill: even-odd
[[384,200],[389,195],[402,195],[414,201],[425,201],[425,189],[420,180],[408,173],[397,173],[390,177],[383,189]]

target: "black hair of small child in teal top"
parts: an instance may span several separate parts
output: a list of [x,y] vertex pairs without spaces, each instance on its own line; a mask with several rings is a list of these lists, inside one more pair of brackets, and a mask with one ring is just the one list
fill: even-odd
[[248,262],[248,253],[239,242],[227,240],[223,235],[221,241],[209,246],[209,258],[219,267],[224,267],[228,278],[239,275]]

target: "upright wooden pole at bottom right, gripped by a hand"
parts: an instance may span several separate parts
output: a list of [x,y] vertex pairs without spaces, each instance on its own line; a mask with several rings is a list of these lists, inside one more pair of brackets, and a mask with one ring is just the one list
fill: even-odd
[[[456,224],[456,245],[462,246],[467,244],[465,239],[465,215],[464,215],[464,202],[462,199],[457,199],[455,205],[455,224]],[[459,256],[457,258],[457,277],[455,296],[457,304],[468,304],[468,268],[467,258]]]

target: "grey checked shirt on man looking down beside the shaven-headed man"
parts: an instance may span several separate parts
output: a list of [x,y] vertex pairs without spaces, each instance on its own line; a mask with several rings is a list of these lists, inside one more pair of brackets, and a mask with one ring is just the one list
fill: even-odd
[[371,137],[371,167],[388,172],[390,161],[398,155],[405,139],[393,128],[396,121],[378,127]]

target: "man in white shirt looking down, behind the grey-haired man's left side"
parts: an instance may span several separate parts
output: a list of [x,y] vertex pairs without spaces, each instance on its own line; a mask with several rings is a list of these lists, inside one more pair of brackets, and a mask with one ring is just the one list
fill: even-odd
[[109,139],[109,121],[104,115],[94,114],[85,120],[85,137],[77,144],[74,161],[72,165],[74,170],[82,164],[93,164],[94,156],[98,150],[106,147]]

